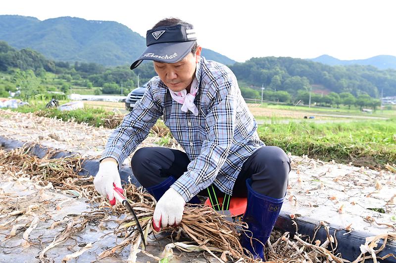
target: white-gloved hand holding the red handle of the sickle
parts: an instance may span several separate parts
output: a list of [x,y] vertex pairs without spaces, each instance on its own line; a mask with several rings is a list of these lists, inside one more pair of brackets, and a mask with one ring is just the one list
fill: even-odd
[[[114,185],[113,185],[114,184]],[[111,205],[115,205],[113,194],[114,186],[123,193],[121,187],[120,174],[118,173],[118,164],[114,158],[104,158],[99,164],[99,171],[95,176],[94,185],[96,190],[104,196],[107,196]]]

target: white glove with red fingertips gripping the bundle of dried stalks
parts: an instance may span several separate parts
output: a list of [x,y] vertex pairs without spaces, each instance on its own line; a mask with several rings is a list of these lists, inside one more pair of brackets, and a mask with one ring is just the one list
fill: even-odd
[[159,231],[167,225],[179,225],[182,222],[186,201],[175,189],[169,188],[159,199],[152,217],[152,226]]

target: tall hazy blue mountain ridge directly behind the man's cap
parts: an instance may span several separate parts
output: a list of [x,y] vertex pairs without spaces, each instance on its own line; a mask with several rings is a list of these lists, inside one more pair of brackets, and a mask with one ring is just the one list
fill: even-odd
[[[15,48],[32,48],[49,59],[94,62],[104,66],[130,64],[140,56],[146,40],[128,27],[112,21],[58,17],[0,15],[0,40]],[[226,65],[234,60],[210,49],[203,56]]]

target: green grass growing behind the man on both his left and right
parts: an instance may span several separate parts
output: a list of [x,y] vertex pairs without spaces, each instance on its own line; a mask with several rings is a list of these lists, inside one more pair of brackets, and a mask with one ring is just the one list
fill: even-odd
[[[60,101],[59,103],[65,103]],[[114,112],[100,108],[85,107],[82,110],[60,112],[45,109],[47,101],[32,101],[29,106],[14,111],[36,113],[40,116],[57,117],[67,121],[86,122],[92,126],[114,128],[119,119],[111,119]],[[351,122],[314,123],[310,120],[279,123],[284,118],[272,116],[263,118],[270,124],[258,126],[260,139],[266,145],[279,146],[294,155],[308,154],[309,157],[340,163],[383,168],[386,163],[396,163],[396,117],[390,120],[362,120]],[[152,131],[163,137],[158,144],[168,145],[169,130],[158,122]]]

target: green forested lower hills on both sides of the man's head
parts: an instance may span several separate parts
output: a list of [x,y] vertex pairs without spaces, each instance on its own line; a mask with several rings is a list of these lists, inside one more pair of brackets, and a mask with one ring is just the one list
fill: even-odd
[[[310,89],[321,90],[322,95],[350,93],[356,98],[364,94],[379,98],[381,90],[384,96],[396,95],[396,71],[378,70],[372,66],[332,67],[303,59],[264,57],[235,63],[230,68],[246,98],[260,98],[261,86],[265,87],[264,95],[275,101],[294,101],[305,96],[305,102]],[[5,91],[17,86],[31,86],[34,80],[36,87],[41,85],[43,89],[63,87],[62,91],[67,91],[72,85],[96,87],[98,92],[110,94],[119,94],[121,86],[125,92],[135,88],[138,75],[140,83],[156,75],[151,62],[142,63],[134,71],[129,70],[129,64],[106,68],[95,63],[55,62],[31,49],[16,50],[4,41],[0,41],[1,72],[9,75],[4,84]],[[58,80],[54,84],[45,84],[49,77],[47,73]],[[332,94],[332,97],[337,96]]]

